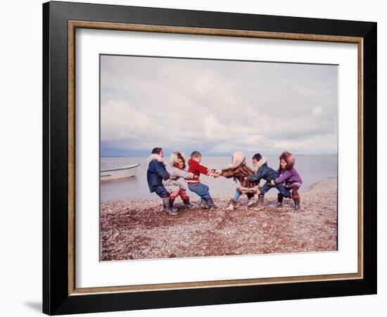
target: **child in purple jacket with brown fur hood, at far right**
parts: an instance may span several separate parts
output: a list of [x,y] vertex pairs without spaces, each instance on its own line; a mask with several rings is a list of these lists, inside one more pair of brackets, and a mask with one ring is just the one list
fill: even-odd
[[[279,156],[279,168],[277,170],[279,173],[279,178],[276,178],[274,181],[272,181],[272,186],[285,182],[285,189],[289,193],[286,197],[293,199],[294,210],[298,212],[300,209],[300,194],[298,193],[298,189],[300,189],[301,185],[303,184],[303,180],[301,180],[300,175],[294,168],[295,162],[296,159],[294,159],[293,154],[290,152],[284,151],[281,153]],[[282,206],[282,201],[284,201],[284,195],[279,193],[277,204],[278,207]]]

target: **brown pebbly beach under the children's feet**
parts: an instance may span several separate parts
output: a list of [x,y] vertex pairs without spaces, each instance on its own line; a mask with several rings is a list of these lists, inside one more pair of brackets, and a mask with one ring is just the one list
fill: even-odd
[[[272,191],[275,189],[272,189]],[[163,213],[161,199],[101,203],[101,261],[163,259],[193,256],[274,254],[337,249],[337,179],[322,180],[300,192],[299,213],[293,200],[265,197],[265,204],[248,208],[246,197],[237,209],[226,210],[229,196],[216,196],[217,209],[194,209],[177,198],[177,216]]]

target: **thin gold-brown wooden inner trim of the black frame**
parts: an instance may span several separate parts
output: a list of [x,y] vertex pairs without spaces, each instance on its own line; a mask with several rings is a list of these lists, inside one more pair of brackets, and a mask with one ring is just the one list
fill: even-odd
[[[230,37],[256,37],[267,39],[307,40],[317,42],[344,42],[357,44],[358,54],[358,261],[357,273],[332,274],[332,275],[307,275],[282,278],[257,278],[240,280],[215,280],[205,282],[175,282],[150,285],[122,285],[106,287],[76,288],[75,285],[75,29],[99,30],[128,30],[137,32],[164,32],[190,35],[215,35]],[[284,32],[263,32],[250,30],[210,29],[204,27],[175,27],[169,25],[141,25],[134,23],[105,23],[82,20],[68,20],[68,295],[79,296],[82,294],[100,294],[106,292],[138,292],[156,290],[182,290],[187,288],[227,287],[264,285],[289,282],[317,282],[326,280],[354,280],[362,279],[363,272],[363,38],[345,37],[336,35],[308,35]]]

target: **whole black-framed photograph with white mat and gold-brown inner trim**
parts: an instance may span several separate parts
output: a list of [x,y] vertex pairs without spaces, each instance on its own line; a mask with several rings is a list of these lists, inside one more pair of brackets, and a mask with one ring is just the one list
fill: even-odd
[[376,23],[43,4],[43,312],[376,294]]

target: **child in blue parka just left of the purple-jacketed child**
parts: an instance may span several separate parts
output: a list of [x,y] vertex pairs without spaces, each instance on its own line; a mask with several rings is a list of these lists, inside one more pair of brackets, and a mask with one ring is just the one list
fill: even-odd
[[[266,192],[272,188],[271,182],[274,182],[276,178],[279,178],[279,173],[272,168],[267,166],[267,159],[262,157],[259,153],[254,154],[253,156],[253,166],[257,169],[257,173],[255,175],[248,175],[246,180],[249,182],[260,182],[261,179],[266,180],[265,185],[260,189],[260,194],[258,194],[258,204],[263,204],[264,197]],[[277,190],[284,194],[284,196],[288,195],[284,185],[279,184],[275,185]]]

